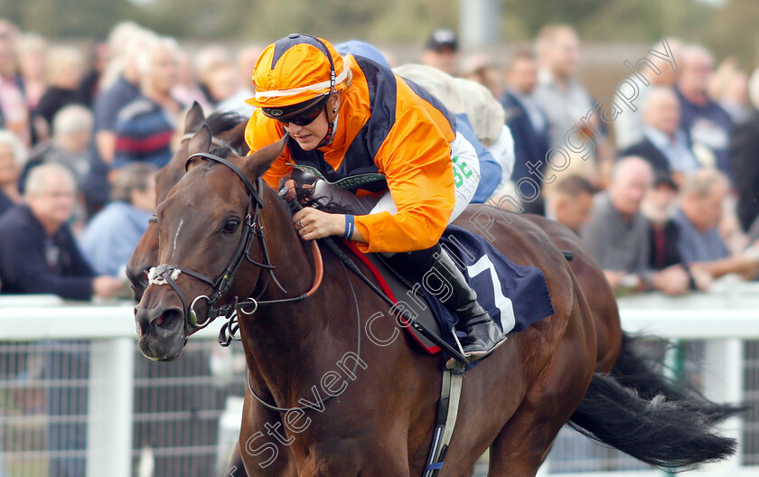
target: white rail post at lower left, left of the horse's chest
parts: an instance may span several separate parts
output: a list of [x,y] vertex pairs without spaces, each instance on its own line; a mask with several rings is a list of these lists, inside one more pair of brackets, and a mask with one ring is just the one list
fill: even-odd
[[89,379],[87,477],[131,477],[134,339],[92,341]]

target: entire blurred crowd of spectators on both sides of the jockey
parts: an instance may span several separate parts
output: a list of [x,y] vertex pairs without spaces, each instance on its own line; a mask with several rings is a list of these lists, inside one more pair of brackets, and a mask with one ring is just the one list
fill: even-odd
[[[396,66],[367,43],[338,49]],[[183,110],[197,101],[206,114],[248,117],[259,52],[190,50],[135,23],[89,48],[52,45],[0,20],[0,293],[123,293],[117,277],[155,207],[155,172]],[[454,31],[439,29],[419,58],[439,74],[396,70],[438,95],[472,137],[477,201],[566,225],[618,290],[677,295],[726,274],[756,278],[759,73],[732,59],[717,68],[703,46],[664,39],[632,69],[636,108],[607,120],[588,114],[598,103],[577,76],[571,26],[546,25],[533,48],[504,60],[502,69],[482,53],[462,61]],[[573,131],[582,160],[573,153],[557,168],[550,151]],[[520,193],[523,182],[539,193]],[[508,191],[519,199],[499,200]]]

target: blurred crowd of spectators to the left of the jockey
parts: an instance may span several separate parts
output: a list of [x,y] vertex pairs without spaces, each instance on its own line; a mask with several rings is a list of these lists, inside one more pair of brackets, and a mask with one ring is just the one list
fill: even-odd
[[0,19],[0,293],[129,295],[183,111],[249,116],[259,51],[191,51],[129,22],[82,48]]

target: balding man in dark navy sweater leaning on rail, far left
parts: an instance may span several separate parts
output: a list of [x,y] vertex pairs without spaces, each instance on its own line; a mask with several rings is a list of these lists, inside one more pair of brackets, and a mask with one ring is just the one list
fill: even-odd
[[4,294],[54,294],[72,300],[110,297],[121,288],[113,276],[96,276],[67,225],[76,186],[68,168],[43,164],[24,187],[24,203],[0,218],[0,280]]

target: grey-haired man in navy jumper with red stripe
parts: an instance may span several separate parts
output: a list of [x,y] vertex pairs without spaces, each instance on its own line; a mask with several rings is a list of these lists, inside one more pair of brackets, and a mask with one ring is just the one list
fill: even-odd
[[139,57],[140,98],[117,117],[113,168],[145,162],[163,167],[182,105],[172,96],[177,80],[178,47],[171,38],[148,42]]

